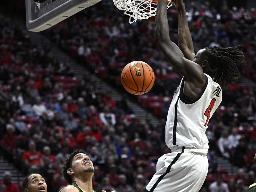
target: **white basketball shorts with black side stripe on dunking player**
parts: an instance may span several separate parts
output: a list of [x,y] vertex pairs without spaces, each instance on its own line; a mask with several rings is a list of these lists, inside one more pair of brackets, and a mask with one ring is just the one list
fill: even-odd
[[208,172],[207,149],[176,147],[161,156],[144,192],[198,192]]

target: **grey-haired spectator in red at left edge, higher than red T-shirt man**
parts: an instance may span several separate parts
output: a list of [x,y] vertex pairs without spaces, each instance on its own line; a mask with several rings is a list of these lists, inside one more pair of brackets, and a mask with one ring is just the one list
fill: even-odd
[[17,135],[14,134],[15,128],[12,124],[7,124],[6,131],[7,133],[4,134],[1,143],[4,145],[4,147],[14,150],[15,143],[18,141]]

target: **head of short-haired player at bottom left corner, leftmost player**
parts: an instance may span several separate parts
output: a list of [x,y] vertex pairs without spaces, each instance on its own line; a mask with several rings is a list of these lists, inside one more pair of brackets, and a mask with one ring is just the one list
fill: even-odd
[[38,173],[30,173],[22,181],[24,192],[47,192],[47,184],[44,177]]

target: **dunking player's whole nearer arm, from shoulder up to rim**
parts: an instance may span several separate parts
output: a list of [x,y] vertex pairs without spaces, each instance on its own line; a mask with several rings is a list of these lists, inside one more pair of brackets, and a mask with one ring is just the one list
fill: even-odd
[[155,38],[160,49],[163,51],[164,56],[172,67],[184,76],[186,82],[185,87],[192,87],[193,90],[196,90],[191,94],[188,93],[187,96],[195,98],[204,86],[204,72],[200,65],[186,59],[179,47],[170,40],[169,24],[167,19],[167,0],[159,0],[157,4]]

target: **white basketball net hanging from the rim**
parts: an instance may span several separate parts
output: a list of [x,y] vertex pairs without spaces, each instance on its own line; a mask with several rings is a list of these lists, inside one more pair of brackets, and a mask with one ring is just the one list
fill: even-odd
[[[125,11],[125,15],[130,16],[130,23],[137,21],[137,19],[148,19],[156,15],[157,3],[152,0],[113,0],[117,9]],[[171,7],[173,0],[167,2],[167,9]]]

